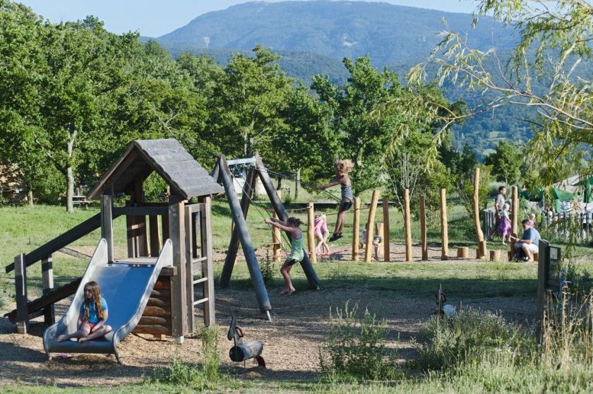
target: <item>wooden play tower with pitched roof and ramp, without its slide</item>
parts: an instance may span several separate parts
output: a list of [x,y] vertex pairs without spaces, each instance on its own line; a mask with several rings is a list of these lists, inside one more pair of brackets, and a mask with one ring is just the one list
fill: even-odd
[[[143,184],[152,172],[169,186],[168,201],[145,202]],[[154,263],[164,241],[171,239],[173,244],[172,265],[162,268],[134,333],[182,338],[194,330],[198,304],[203,304],[204,323],[210,326],[215,323],[211,196],[223,192],[178,141],[134,141],[88,194],[88,199],[100,199],[98,215],[35,251],[17,256],[15,263],[6,267],[6,272],[16,271],[17,294],[17,308],[7,315],[23,333],[35,316],[44,314],[45,321],[52,323],[54,303],[78,287],[75,280],[66,287],[53,288],[52,253],[100,227],[101,237],[107,240],[109,262]],[[114,196],[122,194],[126,195],[125,205],[115,206]],[[191,203],[191,199],[197,202]],[[127,256],[116,258],[113,220],[121,215],[126,216]],[[43,261],[44,296],[28,302],[26,268],[37,261]]]

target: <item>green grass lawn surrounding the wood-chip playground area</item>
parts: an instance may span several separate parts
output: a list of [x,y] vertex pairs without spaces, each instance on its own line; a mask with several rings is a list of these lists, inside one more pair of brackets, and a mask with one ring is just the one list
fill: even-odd
[[[248,223],[254,245],[260,246],[270,241],[270,229],[263,223],[267,213],[253,207],[249,211]],[[269,207],[267,207],[269,208]],[[77,225],[98,212],[96,208],[76,210],[73,214],[66,214],[63,207],[38,205],[28,207],[0,208],[0,262],[7,265],[18,253],[28,253],[38,246]],[[366,221],[366,210],[363,211],[361,222]],[[212,206],[212,232],[215,249],[226,249],[230,237],[229,208],[224,201],[215,201]],[[333,213],[328,211],[329,213]],[[449,209],[449,239],[450,247],[475,246],[473,239],[473,224],[462,208],[453,206]],[[403,241],[402,219],[395,208],[390,208],[390,237],[392,241]],[[333,225],[330,216],[330,227]],[[379,220],[379,218],[378,218]],[[377,220],[377,221],[378,221]],[[429,242],[438,247],[440,244],[440,225],[438,219],[429,220]],[[347,217],[345,233],[352,231],[352,215]],[[117,250],[125,250],[126,229],[122,218],[114,222],[115,246]],[[414,224],[413,239],[419,239],[418,225]],[[94,249],[100,237],[99,230],[80,238],[74,246],[88,251]],[[340,239],[338,245],[349,244],[349,239]],[[490,246],[492,247],[492,246]],[[503,246],[500,246],[503,249]],[[580,269],[593,268],[592,249],[578,247],[576,249]],[[56,253],[54,255],[54,276],[56,287],[69,282],[73,277],[83,273],[87,261]],[[221,264],[215,265],[216,274],[220,274]],[[364,289],[365,292],[390,294],[390,297],[404,297],[409,300],[433,299],[438,285],[443,285],[451,297],[453,304],[465,299],[504,299],[510,304],[531,303],[537,289],[536,265],[517,263],[489,263],[486,261],[460,262],[414,262],[414,263],[320,263],[316,265],[318,275],[323,282],[324,290],[341,292],[349,289]],[[294,270],[294,284],[297,289],[306,288],[306,278],[300,269]],[[28,285],[30,298],[40,294],[40,264],[28,269]],[[270,288],[279,287],[282,279],[275,273]],[[236,265],[233,273],[232,289],[250,289],[248,270],[244,264]],[[0,310],[6,313],[13,309],[13,274],[0,274]],[[381,317],[381,316],[379,316]],[[528,323],[522,322],[525,329]],[[392,333],[392,335],[395,335]],[[513,352],[511,352],[513,353]],[[504,353],[506,354],[506,353]],[[217,383],[212,392],[317,392],[317,393],[443,393],[443,392],[554,392],[587,391],[587,383],[592,381],[593,369],[591,359],[575,357],[572,364],[549,367],[539,362],[530,361],[523,364],[500,354],[481,354],[480,362],[469,363],[464,369],[450,371],[435,371],[422,374],[413,367],[404,370],[403,377],[390,382],[345,382],[339,378],[322,378],[313,380],[287,381],[282,378],[266,378],[263,381],[246,380],[243,378],[229,378]],[[0,357],[0,360],[2,357]],[[559,364],[558,364],[559,365]],[[569,368],[570,367],[570,368]],[[572,371],[572,369],[575,371]],[[554,390],[556,388],[556,390]],[[80,391],[80,387],[35,386],[11,383],[2,388],[6,393],[20,393],[43,390],[44,393],[54,391]],[[118,393],[160,392],[180,393],[191,392],[191,386],[177,386],[174,384],[145,381],[143,384],[126,386],[84,388],[85,391],[103,393],[117,391]]]

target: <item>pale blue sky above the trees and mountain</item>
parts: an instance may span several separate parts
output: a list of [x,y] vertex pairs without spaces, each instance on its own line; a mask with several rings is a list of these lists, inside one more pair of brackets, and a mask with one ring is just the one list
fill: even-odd
[[[52,23],[96,16],[105,29],[116,34],[140,32],[160,37],[210,11],[218,11],[246,0],[14,0],[32,8]],[[268,0],[270,1],[270,0]],[[272,0],[280,1],[280,0]],[[378,1],[378,0],[367,0]],[[477,1],[469,0],[381,0],[400,6],[472,13]]]

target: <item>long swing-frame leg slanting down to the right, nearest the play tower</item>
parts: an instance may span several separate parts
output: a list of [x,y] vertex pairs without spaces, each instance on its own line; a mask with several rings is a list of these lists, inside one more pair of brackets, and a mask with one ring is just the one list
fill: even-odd
[[[253,250],[253,242],[251,242],[251,236],[249,235],[247,222],[243,215],[243,211],[241,210],[241,205],[239,204],[239,197],[236,196],[236,193],[234,191],[232,175],[229,171],[227,160],[224,159],[224,155],[220,155],[218,160],[220,162],[220,177],[222,178],[224,193],[227,195],[229,207],[231,208],[233,220],[235,222],[236,229],[239,234],[239,241],[241,241],[241,246],[243,246],[243,253],[245,255],[245,261],[247,263],[249,275],[251,276],[251,282],[253,283],[253,289],[255,289],[256,291],[256,298],[258,299],[260,311],[265,313],[272,309],[272,304],[270,304],[270,298],[268,297],[268,290],[265,289],[265,283],[263,282],[263,277],[261,275],[261,269],[258,264],[256,252]],[[230,273],[228,275],[228,278],[224,278],[225,282],[227,283],[230,280]],[[221,275],[221,286],[222,281],[223,277]]]

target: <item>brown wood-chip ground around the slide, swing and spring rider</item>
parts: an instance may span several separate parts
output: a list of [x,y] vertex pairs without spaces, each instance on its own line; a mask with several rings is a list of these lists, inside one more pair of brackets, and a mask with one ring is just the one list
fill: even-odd
[[[338,249],[336,247],[336,249]],[[394,245],[393,259],[402,261],[400,246]],[[419,249],[414,253],[419,256]],[[431,258],[440,257],[440,251],[431,251]],[[219,258],[224,258],[219,253]],[[349,259],[345,251],[338,259]],[[376,289],[321,289],[318,292],[299,291],[290,297],[270,289],[270,302],[274,306],[272,322],[265,321],[256,307],[251,289],[217,289],[216,318],[220,324],[220,359],[232,367],[233,374],[244,378],[312,379],[318,374],[318,347],[328,329],[330,307],[343,306],[347,300],[358,303],[359,310],[366,306],[385,317],[390,327],[391,345],[400,350],[400,357],[413,357],[410,339],[417,334],[421,322],[431,315],[431,299],[409,299],[392,291]],[[56,314],[66,310],[69,300],[56,305]],[[480,299],[467,305],[501,310],[505,317],[520,321],[532,318],[532,304],[521,304],[508,298]],[[246,339],[265,341],[263,356],[267,369],[253,368],[248,364],[233,364],[228,359],[231,342],[226,338],[227,324],[232,314],[238,316]],[[178,351],[185,362],[200,362],[199,338],[186,338],[176,346],[172,338],[154,340],[148,335],[128,335],[119,345],[124,366],[116,364],[114,357],[95,354],[54,354],[47,359],[42,346],[44,326],[33,323],[28,335],[14,333],[7,318],[0,318],[0,384],[26,383],[57,384],[59,386],[112,386],[139,382],[157,366],[169,364]],[[400,340],[397,341],[397,336]]]

